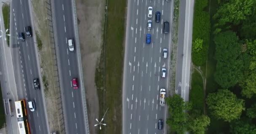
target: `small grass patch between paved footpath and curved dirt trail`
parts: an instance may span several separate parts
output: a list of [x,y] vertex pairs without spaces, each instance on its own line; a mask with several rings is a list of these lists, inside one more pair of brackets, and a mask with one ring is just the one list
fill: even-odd
[[203,113],[204,103],[203,79],[197,70],[192,74],[191,90],[189,91],[189,102],[192,103],[192,109]]

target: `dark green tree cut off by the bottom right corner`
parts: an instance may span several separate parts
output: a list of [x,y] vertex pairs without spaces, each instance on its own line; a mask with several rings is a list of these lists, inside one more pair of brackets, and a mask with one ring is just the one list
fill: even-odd
[[248,121],[233,121],[230,124],[232,134],[256,134],[256,127]]

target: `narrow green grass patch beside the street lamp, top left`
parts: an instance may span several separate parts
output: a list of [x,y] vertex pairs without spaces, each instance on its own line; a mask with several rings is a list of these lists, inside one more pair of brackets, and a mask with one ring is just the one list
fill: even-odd
[[[2,12],[3,12],[3,22],[5,25],[5,29],[9,29],[6,33],[3,31],[2,35],[10,34],[10,5],[3,4]],[[10,46],[10,36],[6,36],[7,45]]]

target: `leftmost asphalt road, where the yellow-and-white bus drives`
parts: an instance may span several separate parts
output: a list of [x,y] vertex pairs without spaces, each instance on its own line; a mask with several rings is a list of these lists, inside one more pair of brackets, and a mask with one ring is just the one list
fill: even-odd
[[32,26],[29,8],[28,0],[12,1],[11,4],[10,46],[12,47],[17,93],[19,100],[35,101],[36,111],[31,112],[27,107],[31,134],[48,134],[49,126],[43,102],[43,90],[33,88],[33,79],[40,76],[35,51],[37,45],[34,43],[35,33],[32,33],[32,37],[25,35],[25,41],[17,38],[20,32],[25,34],[25,26]]

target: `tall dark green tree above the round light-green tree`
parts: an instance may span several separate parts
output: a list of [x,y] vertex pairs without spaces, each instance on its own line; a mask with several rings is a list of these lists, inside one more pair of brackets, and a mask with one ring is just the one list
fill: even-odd
[[214,79],[222,88],[229,88],[243,77],[243,60],[239,58],[242,47],[238,43],[238,37],[232,31],[217,34],[214,42],[217,60]]

